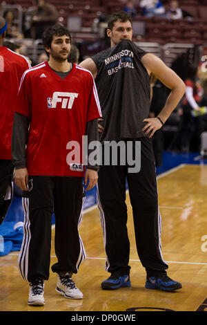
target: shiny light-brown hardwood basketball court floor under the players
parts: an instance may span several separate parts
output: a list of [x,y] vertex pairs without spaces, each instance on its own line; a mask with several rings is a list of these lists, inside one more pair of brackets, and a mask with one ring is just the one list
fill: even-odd
[[[162,216],[162,254],[168,263],[168,275],[183,288],[175,293],[144,288],[146,272],[135,247],[132,207],[128,193],[128,236],[130,238],[131,288],[101,290],[106,272],[103,236],[97,206],[83,212],[79,228],[87,259],[77,275],[82,300],[70,300],[56,292],[56,275],[50,272],[45,284],[46,305],[28,306],[28,283],[17,267],[19,252],[0,257],[1,311],[126,311],[166,308],[175,311],[207,311],[207,166],[179,165],[157,177],[159,207]],[[51,263],[56,261],[55,229],[52,226]],[[151,308],[151,309],[143,309]]]

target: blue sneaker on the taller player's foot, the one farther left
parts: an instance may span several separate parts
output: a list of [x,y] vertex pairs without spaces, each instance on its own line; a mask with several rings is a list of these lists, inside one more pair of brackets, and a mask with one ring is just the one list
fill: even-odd
[[118,275],[117,273],[112,273],[108,279],[101,283],[101,288],[105,290],[115,290],[130,286],[131,282],[129,275]]

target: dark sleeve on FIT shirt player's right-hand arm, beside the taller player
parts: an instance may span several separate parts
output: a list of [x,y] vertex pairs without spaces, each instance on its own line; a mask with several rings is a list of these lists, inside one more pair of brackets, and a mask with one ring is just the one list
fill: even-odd
[[[86,136],[88,136],[88,145],[92,141],[99,141],[98,119],[87,122]],[[93,151],[93,149],[88,149],[88,156],[90,156],[92,151]],[[93,169],[95,171],[99,171],[99,165],[90,165],[89,162],[88,162],[87,168]]]

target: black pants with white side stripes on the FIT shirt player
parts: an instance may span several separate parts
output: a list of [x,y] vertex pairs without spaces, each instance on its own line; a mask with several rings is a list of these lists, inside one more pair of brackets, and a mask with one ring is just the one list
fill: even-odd
[[30,192],[23,192],[23,196],[24,235],[19,254],[23,279],[49,278],[53,212],[57,263],[52,265],[52,272],[77,273],[86,257],[78,232],[83,178],[30,176]]

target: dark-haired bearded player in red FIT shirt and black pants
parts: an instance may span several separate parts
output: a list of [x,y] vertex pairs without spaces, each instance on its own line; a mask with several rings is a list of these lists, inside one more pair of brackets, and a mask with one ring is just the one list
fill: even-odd
[[[30,283],[28,304],[43,305],[49,278],[51,217],[55,213],[57,292],[70,299],[83,294],[71,277],[86,258],[78,228],[83,203],[82,138],[98,139],[99,98],[92,74],[68,62],[71,39],[55,25],[43,33],[48,62],[24,73],[15,106],[12,134],[14,180],[23,189],[24,237],[19,269]],[[24,130],[24,131],[22,131]],[[78,144],[79,156],[70,149]],[[25,150],[26,148],[26,150]],[[79,155],[78,155],[79,154]],[[85,184],[97,183],[97,166],[88,166]],[[27,195],[26,195],[27,194]]]

